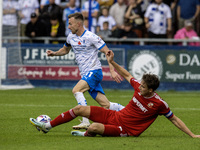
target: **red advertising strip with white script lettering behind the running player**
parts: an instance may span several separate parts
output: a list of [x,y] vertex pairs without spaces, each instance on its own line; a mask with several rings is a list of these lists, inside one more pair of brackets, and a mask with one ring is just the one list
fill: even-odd
[[[112,81],[109,66],[103,66],[103,80]],[[80,72],[77,66],[8,66],[8,78],[42,80],[80,80]]]

